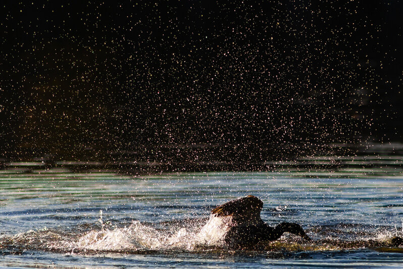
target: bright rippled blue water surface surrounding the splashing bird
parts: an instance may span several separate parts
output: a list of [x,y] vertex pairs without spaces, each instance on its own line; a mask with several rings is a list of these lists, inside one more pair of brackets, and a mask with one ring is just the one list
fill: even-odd
[[[396,267],[403,248],[403,173],[201,172],[131,176],[15,165],[0,170],[0,266]],[[335,175],[335,176],[332,176]],[[300,223],[262,251],[232,251],[209,212],[253,194],[274,226]],[[204,229],[206,230],[206,229]]]

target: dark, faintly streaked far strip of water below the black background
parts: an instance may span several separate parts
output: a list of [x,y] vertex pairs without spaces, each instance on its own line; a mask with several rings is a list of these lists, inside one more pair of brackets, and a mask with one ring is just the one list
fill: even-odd
[[[202,145],[197,145],[202,146]],[[28,171],[59,173],[67,171],[112,170],[120,174],[141,175],[145,173],[182,172],[182,171],[269,171],[273,175],[290,177],[395,177],[403,174],[403,144],[371,145],[325,145],[315,147],[312,156],[293,157],[292,160],[250,160],[226,161],[205,154],[203,158],[191,155],[194,145],[164,145],[150,152],[156,156],[137,156],[136,151],[105,153],[104,159],[111,161],[55,161],[49,157],[32,158],[36,161],[21,162],[0,159],[0,173],[22,173]],[[223,145],[205,145],[208,151],[220,152]],[[319,147],[319,148],[318,148]],[[224,147],[226,148],[226,147]],[[309,148],[309,147],[308,147]],[[345,148],[350,155],[332,154],[333,148]],[[163,160],[167,152],[179,154],[183,160]],[[183,152],[182,152],[183,151]],[[148,152],[148,151],[147,151]],[[324,155],[318,153],[323,152]],[[110,154],[110,156],[108,155]],[[190,155],[189,155],[190,154]],[[187,156],[189,155],[189,156]],[[118,157],[117,157],[118,156]],[[274,157],[273,157],[274,158]],[[51,170],[49,171],[49,169]]]

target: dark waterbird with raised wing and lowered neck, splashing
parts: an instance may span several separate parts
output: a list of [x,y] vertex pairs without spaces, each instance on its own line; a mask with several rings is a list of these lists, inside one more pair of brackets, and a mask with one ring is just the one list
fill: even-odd
[[259,249],[265,243],[279,239],[285,232],[311,241],[296,223],[282,222],[274,228],[267,225],[260,217],[262,208],[263,202],[258,197],[248,195],[222,204],[211,211],[216,217],[232,217],[230,229],[224,238],[229,248]]

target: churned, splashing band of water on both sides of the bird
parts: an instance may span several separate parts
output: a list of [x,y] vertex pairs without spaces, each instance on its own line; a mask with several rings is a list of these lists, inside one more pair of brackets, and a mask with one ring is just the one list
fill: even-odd
[[[226,249],[224,237],[228,232],[232,218],[211,215],[207,221],[197,221],[170,226],[169,229],[156,229],[152,225],[133,220],[128,227],[105,228],[102,212],[98,221],[100,230],[91,228],[83,234],[57,229],[43,228],[8,236],[1,235],[3,246],[14,249],[42,249],[46,251],[70,252],[136,252],[136,251],[200,251],[208,249]],[[178,223],[177,223],[178,224]],[[342,239],[343,232],[349,239]],[[362,225],[337,225],[334,227],[313,227],[309,232],[318,239],[307,244],[293,235],[283,235],[278,241],[268,242],[266,250],[279,251],[318,251],[345,250],[361,247],[382,247],[390,245],[391,238],[402,237],[403,229],[375,228],[373,232],[361,232]],[[74,230],[74,229],[73,229]],[[80,229],[78,229],[79,231]],[[329,234],[337,233],[333,238]],[[327,236],[321,236],[321,234]],[[356,234],[355,238],[351,238]],[[316,236],[315,236],[316,235]],[[311,235],[312,236],[312,235]],[[395,250],[397,252],[403,250]]]

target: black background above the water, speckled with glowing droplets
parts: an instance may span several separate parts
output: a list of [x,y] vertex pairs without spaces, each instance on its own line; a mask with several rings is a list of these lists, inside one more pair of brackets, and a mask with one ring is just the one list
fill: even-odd
[[257,162],[402,141],[399,1],[0,6],[6,159]]

